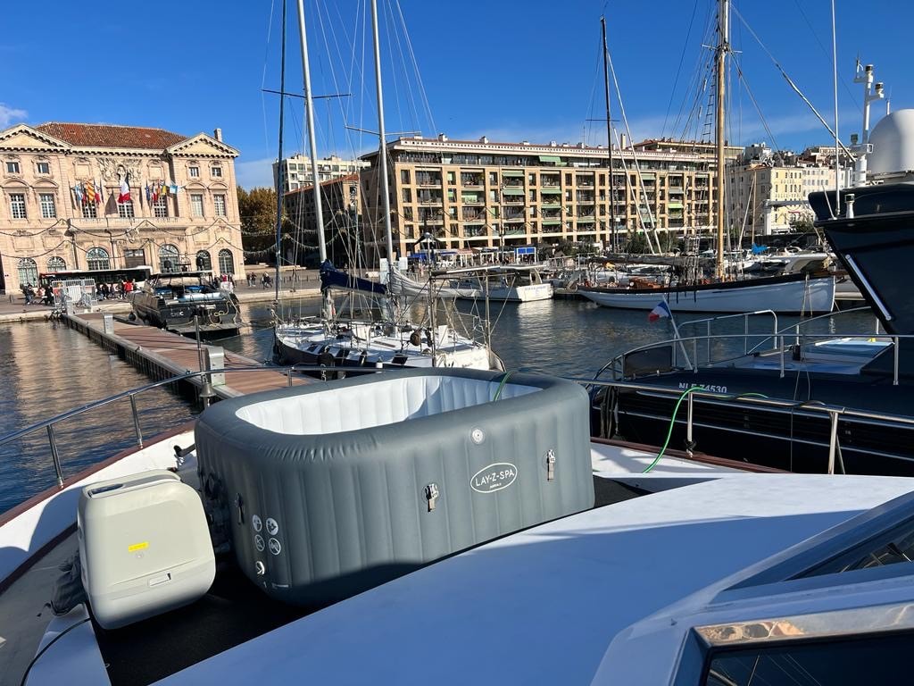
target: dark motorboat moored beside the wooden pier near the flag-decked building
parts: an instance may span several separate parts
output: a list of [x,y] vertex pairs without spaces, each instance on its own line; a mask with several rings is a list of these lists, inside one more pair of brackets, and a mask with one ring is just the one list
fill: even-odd
[[238,297],[230,282],[212,278],[207,271],[155,273],[134,291],[133,316],[184,336],[232,336],[241,326]]

